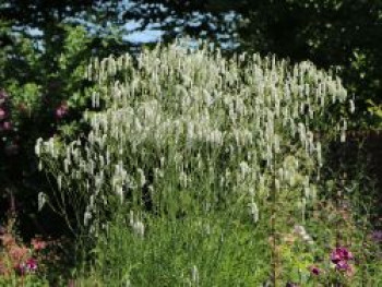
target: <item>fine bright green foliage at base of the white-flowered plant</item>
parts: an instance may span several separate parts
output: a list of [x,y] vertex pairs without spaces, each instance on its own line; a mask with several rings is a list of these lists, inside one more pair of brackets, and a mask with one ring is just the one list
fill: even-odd
[[[191,217],[169,222],[146,218],[147,232],[136,236],[119,220],[99,240],[95,272],[121,286],[249,286],[267,278],[270,250],[247,220]],[[194,274],[192,274],[194,273]]]

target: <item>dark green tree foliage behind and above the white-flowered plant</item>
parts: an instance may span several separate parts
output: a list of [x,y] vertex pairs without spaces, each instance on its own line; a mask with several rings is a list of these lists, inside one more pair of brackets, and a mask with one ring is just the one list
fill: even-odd
[[[341,71],[357,105],[353,127],[378,129],[382,108],[382,1],[374,0],[136,0],[2,1],[0,4],[0,89],[12,130],[0,130],[2,208],[36,213],[37,192],[48,183],[37,172],[37,137],[85,132],[89,108],[83,80],[93,56],[136,51],[122,40],[122,25],[155,23],[163,40],[190,35],[235,51],[309,59]],[[57,117],[59,107],[69,108]],[[11,195],[13,194],[13,195]],[[44,228],[43,228],[44,229]],[[43,230],[41,229],[41,230]]]

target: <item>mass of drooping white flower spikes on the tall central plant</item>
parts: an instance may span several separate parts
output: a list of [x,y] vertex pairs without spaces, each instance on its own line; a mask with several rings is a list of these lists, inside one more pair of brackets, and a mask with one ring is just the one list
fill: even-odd
[[[346,120],[331,109],[354,110],[341,80],[310,62],[225,59],[218,49],[191,51],[184,41],[136,61],[95,59],[86,77],[98,84],[93,106],[105,105],[85,115],[87,139],[36,144],[59,189],[85,199],[85,225],[110,204],[142,206],[143,189],[158,210],[207,210],[244,195],[254,222],[259,199],[272,189],[300,189],[303,201],[314,199],[323,165],[315,133],[334,129],[345,140]],[[141,224],[131,223],[139,234]]]

